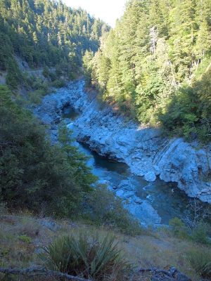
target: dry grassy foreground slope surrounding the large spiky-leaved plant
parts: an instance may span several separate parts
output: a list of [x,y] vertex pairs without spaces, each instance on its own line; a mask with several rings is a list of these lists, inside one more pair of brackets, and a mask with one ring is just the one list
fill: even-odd
[[[2,211],[2,209],[1,209]],[[46,218],[44,216],[44,209],[41,210],[39,217],[34,217],[27,212],[20,212],[19,214],[2,214],[1,212],[1,223],[0,223],[0,238],[1,238],[1,248],[0,248],[0,280],[4,280],[4,274],[2,273],[4,268],[17,268],[22,270],[24,268],[43,268],[47,266],[42,259],[41,252],[44,252],[44,247],[49,247],[50,243],[59,240],[66,235],[72,235],[75,239],[79,238],[79,233],[87,233],[89,240],[93,239],[94,235],[98,233],[99,241],[108,235],[115,236],[115,243],[118,242],[118,249],[121,249],[122,261],[132,263],[134,271],[130,274],[125,274],[124,276],[115,276],[115,270],[113,270],[113,275],[105,276],[103,280],[151,280],[149,278],[159,276],[159,280],[189,280],[184,275],[175,273],[172,275],[172,279],[167,279],[167,272],[170,273],[170,267],[174,266],[178,268],[183,273],[191,277],[191,280],[199,281],[200,275],[194,272],[194,268],[188,262],[187,254],[188,252],[202,252],[206,251],[210,253],[210,249],[207,250],[206,247],[196,246],[188,241],[182,241],[181,239],[174,237],[174,235],[163,228],[154,233],[149,228],[145,230],[141,235],[132,237],[129,235],[122,235],[108,228],[99,228],[94,226],[87,226],[83,223],[75,223],[67,219],[55,220],[52,218]],[[58,261],[59,257],[58,252]],[[56,256],[55,256],[56,259]],[[56,268],[56,267],[55,267]],[[56,270],[54,268],[54,270]],[[148,269],[142,271],[140,269]],[[159,268],[158,272],[153,272],[149,269]],[[36,273],[25,272],[24,274],[10,274],[8,278],[13,278],[13,280],[60,280],[53,273],[45,273],[44,270]],[[53,269],[47,266],[47,270]],[[139,269],[139,272],[138,272]],[[160,274],[159,274],[160,270]],[[65,273],[65,271],[61,270]],[[24,270],[23,270],[24,273]],[[78,279],[77,279],[78,277]],[[75,276],[75,280],[85,280],[81,275]],[[79,278],[82,279],[79,279]],[[20,279],[21,278],[21,279]],[[89,277],[91,278],[91,277]],[[170,275],[169,275],[170,278]],[[178,278],[178,279],[177,279]],[[180,279],[179,279],[180,278]],[[9,279],[11,280],[11,279]],[[67,278],[64,280],[73,280]],[[91,280],[91,279],[89,279]],[[101,279],[100,279],[101,280]]]

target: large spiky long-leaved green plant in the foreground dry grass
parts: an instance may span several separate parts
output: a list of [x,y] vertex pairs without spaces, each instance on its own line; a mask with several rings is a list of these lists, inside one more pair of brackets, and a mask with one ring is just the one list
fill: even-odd
[[99,239],[98,233],[90,237],[81,232],[78,239],[68,235],[53,240],[49,247],[43,248],[45,252],[40,257],[48,268],[62,273],[94,280],[105,280],[115,274],[115,280],[122,280],[132,265],[122,260],[114,242],[114,236]]

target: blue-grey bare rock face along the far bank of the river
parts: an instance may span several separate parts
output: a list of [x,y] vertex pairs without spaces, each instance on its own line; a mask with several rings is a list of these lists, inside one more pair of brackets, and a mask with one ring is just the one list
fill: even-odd
[[197,141],[169,140],[161,136],[159,129],[127,122],[117,116],[114,108],[101,110],[93,95],[84,93],[83,87],[82,80],[71,82],[68,89],[44,97],[37,110],[42,122],[56,129],[61,110],[70,104],[82,112],[75,120],[80,130],[78,141],[89,144],[100,155],[125,162],[146,181],[155,181],[160,176],[163,181],[177,182],[188,196],[211,203],[211,145],[200,148]]

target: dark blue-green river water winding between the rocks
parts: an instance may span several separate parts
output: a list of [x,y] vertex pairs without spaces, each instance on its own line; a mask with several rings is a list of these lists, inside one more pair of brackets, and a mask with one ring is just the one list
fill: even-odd
[[[79,116],[79,112],[76,112],[73,107],[69,106],[63,109],[63,118],[69,119],[68,127],[73,131],[75,138],[79,133],[77,126],[74,125],[77,116]],[[142,200],[148,200],[162,218],[161,223],[168,224],[171,218],[179,217],[180,214],[185,214],[188,211],[188,196],[177,188],[177,183],[165,183],[159,178],[153,183],[148,183],[143,177],[132,174],[127,164],[102,157],[83,143],[77,145],[86,155],[93,156],[89,160],[89,166],[93,168],[93,173],[101,180],[108,180],[113,185],[118,185],[123,180],[129,180],[132,185],[136,186],[136,196]]]

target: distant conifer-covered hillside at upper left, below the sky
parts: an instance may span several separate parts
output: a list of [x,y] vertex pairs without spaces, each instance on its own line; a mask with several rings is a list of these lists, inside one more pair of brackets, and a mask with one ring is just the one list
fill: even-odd
[[7,70],[8,86],[23,83],[17,55],[32,68],[56,67],[72,79],[84,52],[96,52],[99,38],[109,29],[102,20],[61,1],[1,0],[0,71]]

